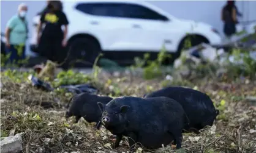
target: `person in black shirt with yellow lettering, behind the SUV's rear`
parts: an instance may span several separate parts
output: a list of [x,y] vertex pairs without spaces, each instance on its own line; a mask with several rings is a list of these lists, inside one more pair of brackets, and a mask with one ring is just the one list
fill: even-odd
[[[40,35],[42,25],[45,24]],[[37,44],[39,54],[53,62],[62,62],[65,59],[65,47],[67,44],[67,25],[69,21],[59,7],[59,2],[50,1],[48,9],[42,13],[37,29]],[[62,31],[61,27],[64,26]]]

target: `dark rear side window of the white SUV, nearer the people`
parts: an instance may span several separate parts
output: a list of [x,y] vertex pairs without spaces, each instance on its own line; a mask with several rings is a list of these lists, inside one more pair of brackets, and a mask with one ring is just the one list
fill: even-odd
[[124,10],[115,3],[80,3],[77,10],[96,16],[124,17]]

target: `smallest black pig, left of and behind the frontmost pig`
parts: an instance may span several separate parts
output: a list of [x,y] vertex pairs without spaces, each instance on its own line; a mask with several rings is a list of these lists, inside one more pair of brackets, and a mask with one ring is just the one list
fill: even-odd
[[85,118],[88,123],[96,122],[96,128],[100,128],[100,119],[102,112],[97,105],[97,102],[102,102],[102,104],[107,104],[113,98],[108,96],[97,96],[96,94],[90,93],[80,93],[73,96],[70,101],[72,104],[69,109],[69,104],[67,104],[66,119],[71,116],[75,116],[75,123],[78,123],[81,117]]

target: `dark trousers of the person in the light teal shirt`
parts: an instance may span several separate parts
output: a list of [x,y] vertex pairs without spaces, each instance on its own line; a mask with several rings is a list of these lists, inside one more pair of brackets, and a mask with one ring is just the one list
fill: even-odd
[[6,55],[8,54],[10,54],[10,57],[7,63],[20,65],[18,61],[25,59],[25,46],[21,46],[20,48],[19,45],[13,44],[10,45],[10,48],[6,46]]

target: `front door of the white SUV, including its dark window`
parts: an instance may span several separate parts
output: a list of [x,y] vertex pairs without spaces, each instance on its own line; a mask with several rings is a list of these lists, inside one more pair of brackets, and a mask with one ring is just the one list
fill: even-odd
[[174,49],[172,40],[176,29],[171,29],[168,18],[140,4],[124,4],[127,24],[132,28],[130,43],[134,49],[158,52],[165,44],[168,51]]

